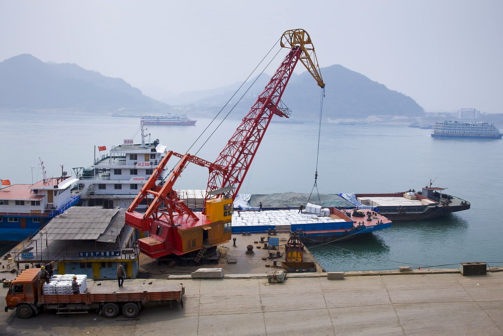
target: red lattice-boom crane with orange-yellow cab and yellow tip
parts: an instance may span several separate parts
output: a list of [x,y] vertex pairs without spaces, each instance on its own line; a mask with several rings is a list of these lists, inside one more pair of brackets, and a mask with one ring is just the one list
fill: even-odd
[[[126,224],[142,232],[150,231],[148,237],[138,239],[143,254],[151,258],[183,255],[199,262],[205,254],[216,249],[217,245],[230,240],[232,201],[273,115],[289,117],[278,105],[299,60],[316,79],[318,86],[324,88],[314,47],[306,31],[286,31],[282,36],[281,46],[290,48],[288,55],[215,162],[211,163],[189,153],[167,152],[128,208]],[[173,156],[180,157],[181,160],[165,183],[156,186],[155,181]],[[173,189],[189,162],[209,169],[203,213],[190,210]],[[136,212],[136,207],[144,200],[148,209],[145,213]]]

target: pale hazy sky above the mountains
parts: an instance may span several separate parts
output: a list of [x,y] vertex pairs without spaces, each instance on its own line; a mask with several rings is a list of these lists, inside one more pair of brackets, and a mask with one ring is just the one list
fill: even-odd
[[244,80],[303,28],[321,67],[342,64],[427,111],[503,113],[502,15],[501,0],[0,0],[0,61],[30,53],[178,94]]

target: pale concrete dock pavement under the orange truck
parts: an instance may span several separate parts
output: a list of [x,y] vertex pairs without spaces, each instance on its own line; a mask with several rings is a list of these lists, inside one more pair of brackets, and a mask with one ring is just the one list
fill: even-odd
[[132,320],[98,313],[20,319],[9,311],[0,315],[2,334],[503,334],[503,272],[344,280],[295,275],[281,284],[265,277],[164,281],[186,286],[184,309],[151,307]]

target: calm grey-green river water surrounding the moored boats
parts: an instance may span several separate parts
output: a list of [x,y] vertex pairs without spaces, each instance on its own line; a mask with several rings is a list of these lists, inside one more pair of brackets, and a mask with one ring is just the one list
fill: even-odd
[[[92,164],[96,146],[140,141],[139,120],[78,113],[4,113],[0,178],[12,184],[42,179],[39,157],[50,176],[60,164]],[[239,121],[224,121],[201,150],[207,136],[196,139],[209,124],[148,126],[153,141],[168,149],[189,151],[214,161]],[[425,221],[395,222],[391,228],[353,242],[308,245],[327,271],[427,267],[460,262],[503,265],[501,249],[501,181],[503,140],[432,138],[431,130],[406,125],[321,126],[316,162],[316,123],[272,123],[241,187],[241,193],[309,193],[317,164],[319,193],[391,193],[434,186],[471,203],[471,209]],[[136,135],[135,135],[136,134]],[[33,178],[32,178],[33,176]],[[189,166],[177,189],[206,189],[208,172]],[[7,247],[8,248],[8,247]],[[446,266],[450,267],[450,266]]]

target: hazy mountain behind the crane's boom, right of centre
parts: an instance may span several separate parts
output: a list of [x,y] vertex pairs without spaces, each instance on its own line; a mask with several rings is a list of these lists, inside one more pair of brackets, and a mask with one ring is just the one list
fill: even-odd
[[[302,66],[299,64],[298,66]],[[342,65],[331,65],[320,69],[325,82],[323,100],[324,119],[365,119],[370,115],[424,116],[424,109],[412,98],[389,90],[384,85],[368,77],[349,70]],[[253,80],[255,80],[254,78]],[[257,82],[237,105],[235,114],[243,113],[255,103],[270,79],[270,75],[261,74]],[[250,80],[253,81],[253,80]],[[187,92],[187,98],[204,97],[192,102],[195,108],[212,109],[222,106],[234,94],[240,83],[208,91]],[[249,84],[246,88],[249,87]],[[243,89],[242,89],[243,90]],[[242,90],[231,102],[241,97]],[[212,95],[218,91],[218,94]],[[293,74],[283,95],[282,101],[292,110],[292,117],[303,120],[316,120],[319,115],[320,88],[307,71]],[[171,98],[170,103],[177,98]],[[167,102],[167,101],[166,101]],[[174,104],[174,103],[171,103]]]

